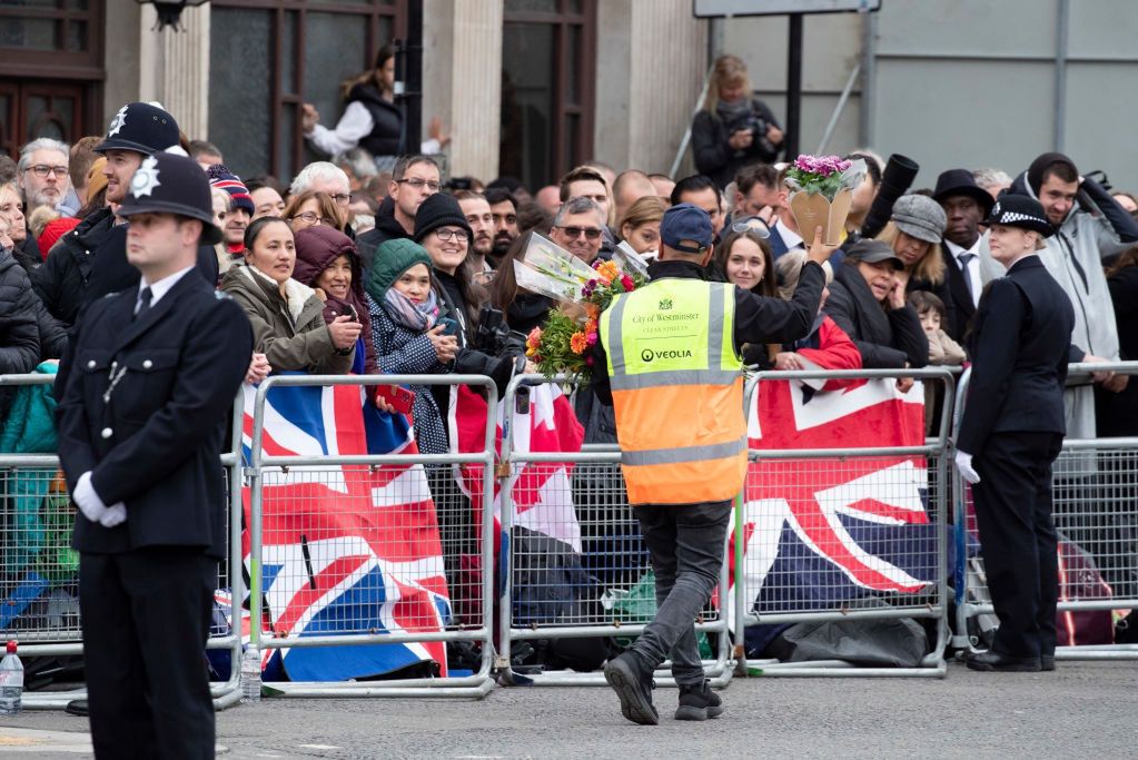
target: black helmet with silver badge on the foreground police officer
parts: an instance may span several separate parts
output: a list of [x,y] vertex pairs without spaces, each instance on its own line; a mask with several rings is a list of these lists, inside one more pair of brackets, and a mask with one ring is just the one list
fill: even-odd
[[158,152],[142,159],[118,215],[176,214],[201,222],[201,242],[221,242],[205,172],[192,158]]

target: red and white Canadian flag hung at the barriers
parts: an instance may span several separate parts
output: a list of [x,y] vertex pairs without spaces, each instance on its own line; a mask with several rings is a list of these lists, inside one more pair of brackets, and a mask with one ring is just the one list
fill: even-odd
[[[517,453],[579,452],[585,440],[585,429],[577,421],[569,398],[559,386],[544,383],[529,389],[529,410],[519,413],[510,410],[511,449]],[[462,453],[481,452],[486,441],[486,400],[464,386],[460,387],[451,405],[451,447]],[[495,454],[501,453],[502,423],[505,404],[497,410]],[[514,527],[544,534],[567,544],[580,553],[580,524],[572,503],[569,479],[570,463],[528,463],[511,465],[506,484],[513,504]],[[483,468],[464,464],[459,485],[470,497],[475,515],[481,514]],[[494,481],[495,536],[501,535],[502,482]],[[477,524],[477,521],[476,521]],[[496,540],[500,540],[496,539]],[[498,548],[495,544],[495,552]]]

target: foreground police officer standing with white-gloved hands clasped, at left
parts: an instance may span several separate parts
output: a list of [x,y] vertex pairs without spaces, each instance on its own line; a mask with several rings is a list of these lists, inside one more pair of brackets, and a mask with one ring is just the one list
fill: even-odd
[[199,242],[221,231],[192,159],[146,157],[118,213],[141,280],[90,305],[56,385],[80,511],[91,737],[100,758],[212,758],[204,652],[226,546],[220,456],[253,330],[195,273]]

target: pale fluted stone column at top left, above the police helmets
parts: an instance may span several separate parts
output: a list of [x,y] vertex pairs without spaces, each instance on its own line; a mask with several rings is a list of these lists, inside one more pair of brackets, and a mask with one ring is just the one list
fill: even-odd
[[139,99],[157,100],[191,140],[209,129],[209,3],[183,8],[180,28],[154,31],[154,6],[142,6]]

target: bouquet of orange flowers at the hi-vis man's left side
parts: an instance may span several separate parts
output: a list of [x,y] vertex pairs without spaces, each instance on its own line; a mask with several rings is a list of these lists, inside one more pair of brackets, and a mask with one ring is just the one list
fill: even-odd
[[570,374],[588,382],[593,357],[586,350],[596,344],[601,312],[618,295],[648,282],[646,272],[627,272],[615,261],[597,259],[591,272],[572,304],[551,311],[545,324],[534,328],[526,338],[526,356],[547,378]]

